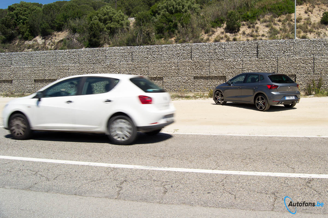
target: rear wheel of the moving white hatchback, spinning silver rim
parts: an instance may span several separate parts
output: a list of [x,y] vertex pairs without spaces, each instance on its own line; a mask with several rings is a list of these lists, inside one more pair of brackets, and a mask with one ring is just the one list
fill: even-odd
[[137,137],[137,128],[127,116],[112,117],[108,122],[108,137],[113,144],[130,145]]

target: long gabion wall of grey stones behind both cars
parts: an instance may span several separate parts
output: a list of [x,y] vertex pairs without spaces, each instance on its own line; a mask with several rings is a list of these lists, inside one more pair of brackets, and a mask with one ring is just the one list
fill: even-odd
[[0,54],[0,92],[35,92],[62,77],[145,75],[170,92],[209,91],[245,72],[285,73],[300,84],[322,77],[328,88],[328,40],[176,44]]

